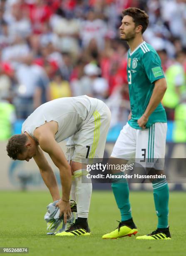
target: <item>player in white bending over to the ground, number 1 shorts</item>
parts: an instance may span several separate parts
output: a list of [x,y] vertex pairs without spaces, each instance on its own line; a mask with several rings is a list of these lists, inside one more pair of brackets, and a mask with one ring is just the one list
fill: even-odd
[[[56,206],[60,215],[64,214],[64,222],[71,212],[70,191],[71,199],[77,201],[77,220],[56,236],[90,235],[87,218],[92,183],[86,176],[86,165],[82,169],[82,164],[103,157],[110,119],[110,110],[101,100],[86,95],[59,98],[37,108],[23,123],[22,134],[12,136],[7,143],[7,153],[12,159],[29,161],[33,157],[52,199],[60,199]],[[69,138],[66,155],[70,165],[58,145],[66,138]],[[60,170],[61,198],[43,151]]]

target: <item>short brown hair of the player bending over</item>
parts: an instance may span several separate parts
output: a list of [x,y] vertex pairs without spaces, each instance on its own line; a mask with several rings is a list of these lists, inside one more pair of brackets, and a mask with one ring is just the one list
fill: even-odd
[[16,160],[17,155],[22,154],[26,150],[25,144],[27,139],[24,133],[13,135],[7,143],[7,155]]

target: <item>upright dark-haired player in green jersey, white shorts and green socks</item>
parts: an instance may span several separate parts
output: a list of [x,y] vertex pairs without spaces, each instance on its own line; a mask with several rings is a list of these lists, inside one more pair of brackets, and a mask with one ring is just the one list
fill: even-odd
[[[166,80],[161,67],[159,55],[154,48],[146,44],[142,34],[146,30],[149,17],[138,8],[127,8],[123,12],[120,38],[127,41],[128,84],[131,113],[114,145],[112,158],[142,159],[145,167],[154,168],[163,174],[166,146],[166,113],[161,100],[166,91]],[[122,163],[126,163],[123,160]],[[151,180],[154,203],[158,216],[157,229],[136,239],[171,239],[168,225],[169,188],[166,179]],[[129,187],[125,180],[112,183],[114,197],[121,213],[119,227],[102,238],[120,238],[137,233],[131,215]]]

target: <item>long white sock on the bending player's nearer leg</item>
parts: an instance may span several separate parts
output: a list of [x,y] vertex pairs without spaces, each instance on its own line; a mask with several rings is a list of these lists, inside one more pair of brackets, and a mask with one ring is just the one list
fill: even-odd
[[76,183],[77,215],[79,218],[88,218],[90,200],[92,195],[92,182],[87,178],[87,170],[74,172]]

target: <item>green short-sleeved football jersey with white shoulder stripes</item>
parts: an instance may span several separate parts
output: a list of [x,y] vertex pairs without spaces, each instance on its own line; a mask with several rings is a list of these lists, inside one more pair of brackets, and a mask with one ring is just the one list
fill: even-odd
[[[129,84],[129,97],[132,118],[129,125],[135,129],[141,129],[137,120],[144,114],[151,98],[154,82],[164,78],[161,60],[154,48],[144,41],[132,53],[129,49],[127,77]],[[153,123],[166,123],[166,113],[160,103],[149,116],[146,128]]]

